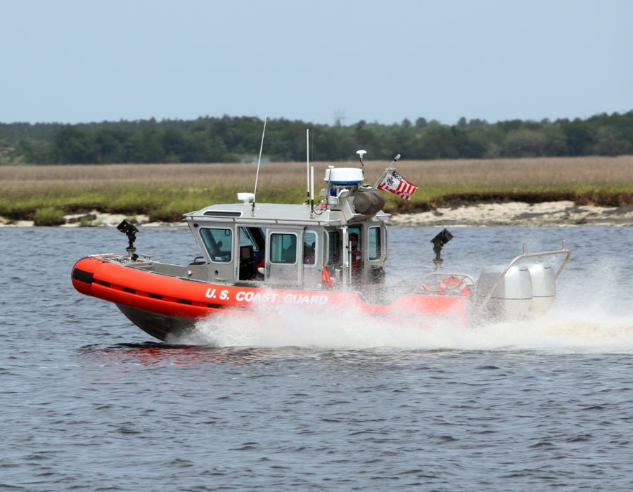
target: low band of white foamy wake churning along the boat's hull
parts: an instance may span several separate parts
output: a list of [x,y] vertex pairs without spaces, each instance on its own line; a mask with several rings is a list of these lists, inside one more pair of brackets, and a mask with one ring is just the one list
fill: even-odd
[[[424,328],[420,328],[424,326]],[[304,347],[460,351],[537,351],[551,354],[633,353],[633,318],[603,312],[553,310],[526,321],[465,328],[449,321],[402,324],[363,313],[307,316],[284,306],[274,312],[226,314],[198,321],[196,329],[170,343],[214,347]]]

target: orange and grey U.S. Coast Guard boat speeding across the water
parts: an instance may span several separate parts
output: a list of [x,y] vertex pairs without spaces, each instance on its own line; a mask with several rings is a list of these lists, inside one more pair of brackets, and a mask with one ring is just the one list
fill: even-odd
[[[359,151],[362,164],[364,151]],[[399,156],[394,160],[394,164]],[[388,168],[375,185],[362,167],[326,169],[322,199],[314,202],[314,167],[304,205],[238,202],[184,214],[201,256],[188,264],[139,257],[138,229],[127,220],[118,229],[129,239],[127,254],[79,259],[72,284],[83,294],[113,302],[149,335],[178,337],[196,321],[219,313],[258,316],[283,305],[301,309],[357,309],[421,327],[430,320],[467,324],[483,316],[518,318],[545,311],[556,297],[556,278],[570,259],[561,250],[522,254],[485,268],[477,281],[467,273],[442,271],[446,229],[431,240],[435,268],[411,292],[395,299],[385,292],[390,214],[379,190],[409,198],[416,186]],[[256,188],[255,188],[256,190]],[[528,262],[563,255],[561,266]]]

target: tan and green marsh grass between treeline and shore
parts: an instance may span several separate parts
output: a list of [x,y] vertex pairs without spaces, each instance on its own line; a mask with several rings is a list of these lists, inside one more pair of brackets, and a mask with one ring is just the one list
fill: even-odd
[[[329,162],[314,162],[318,198]],[[389,162],[367,162],[374,183]],[[337,163],[357,167],[357,162]],[[633,156],[398,162],[397,169],[420,186],[410,202],[384,193],[390,212],[429,209],[452,202],[575,200],[598,205],[633,203]],[[148,214],[178,220],[212,203],[235,202],[252,191],[255,164],[116,164],[0,167],[0,215],[13,219],[61,212]],[[258,202],[301,203],[305,163],[263,164]],[[45,212],[44,212],[45,211]],[[46,219],[49,220],[49,219]]]

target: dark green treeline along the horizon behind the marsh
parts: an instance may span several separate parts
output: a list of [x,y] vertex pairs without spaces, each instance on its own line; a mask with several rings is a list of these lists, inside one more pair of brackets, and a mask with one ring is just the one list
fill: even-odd
[[[109,164],[121,162],[240,162],[256,158],[263,121],[257,117],[200,117],[89,124],[0,124],[0,163]],[[267,124],[264,157],[305,159],[311,128],[314,160],[348,160],[359,148],[371,159],[401,153],[408,160],[554,157],[633,153],[633,111],[587,119],[461,118],[453,125],[408,119],[400,124],[364,121],[316,125],[288,119]]]

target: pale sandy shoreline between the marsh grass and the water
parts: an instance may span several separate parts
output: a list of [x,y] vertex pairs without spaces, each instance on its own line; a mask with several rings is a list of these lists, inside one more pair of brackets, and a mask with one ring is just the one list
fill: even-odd
[[[147,215],[104,214],[88,212],[64,216],[65,224],[57,227],[117,226],[128,218],[143,227],[179,226],[181,222],[150,222]],[[599,207],[576,205],[572,201],[473,203],[437,207],[428,212],[412,212],[391,216],[392,226],[532,226],[561,227],[585,224],[600,226],[633,226],[633,205]],[[0,216],[0,227],[33,227],[33,221],[11,221]]]

